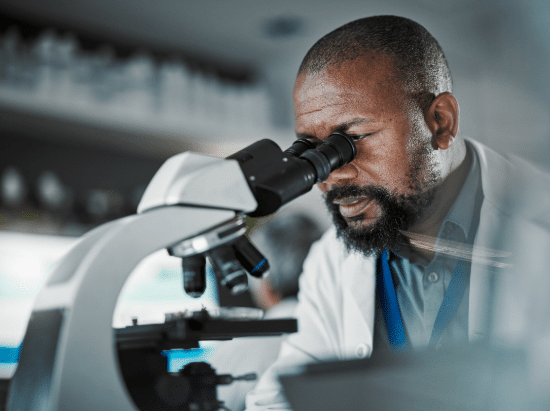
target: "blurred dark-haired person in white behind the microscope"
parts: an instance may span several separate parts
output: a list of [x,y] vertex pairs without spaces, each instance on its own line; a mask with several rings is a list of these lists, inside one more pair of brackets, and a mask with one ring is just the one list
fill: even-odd
[[[252,243],[270,265],[267,277],[249,277],[252,299],[265,311],[264,318],[293,317],[304,259],[321,235],[315,220],[299,212],[283,211],[266,222],[257,222],[251,230]],[[222,342],[209,362],[219,374],[237,376],[254,372],[259,376],[276,360],[282,338],[235,338]],[[231,411],[242,411],[246,394],[255,383],[237,381],[230,386],[218,386],[218,397]]]

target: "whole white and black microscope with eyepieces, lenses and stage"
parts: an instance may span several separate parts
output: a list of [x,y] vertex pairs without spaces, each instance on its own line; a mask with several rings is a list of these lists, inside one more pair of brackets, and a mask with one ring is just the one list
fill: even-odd
[[308,192],[356,155],[353,140],[299,139],[284,152],[260,140],[223,159],[182,153],[155,174],[137,214],[95,228],[58,263],[39,293],[10,383],[8,411],[226,409],[216,386],[233,377],[209,364],[167,371],[171,349],[203,340],[295,332],[295,319],[243,320],[206,310],[163,324],[113,329],[117,297],[132,270],[161,249],[182,261],[183,288],[205,290],[206,261],[232,293],[262,276],[266,259],[244,236],[245,216],[262,217]]

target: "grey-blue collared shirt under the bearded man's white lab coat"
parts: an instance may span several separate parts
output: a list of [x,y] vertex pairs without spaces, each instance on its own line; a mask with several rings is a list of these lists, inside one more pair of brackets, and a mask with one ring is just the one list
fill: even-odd
[[[483,200],[481,171],[474,150],[466,143],[472,164],[466,181],[455,203],[445,217],[439,230],[436,246],[441,240],[466,243],[471,230],[477,231],[479,212]],[[473,238],[474,236],[472,236]],[[403,326],[409,347],[421,348],[428,345],[434,322],[451,282],[458,259],[435,253],[428,262],[411,247],[401,247],[390,253],[390,267],[396,284],[396,296],[403,319]],[[470,263],[466,269],[470,272]],[[468,341],[468,298],[469,285],[456,315],[443,332],[438,346]],[[375,320],[376,344],[389,346],[387,330],[381,309],[377,306]]]

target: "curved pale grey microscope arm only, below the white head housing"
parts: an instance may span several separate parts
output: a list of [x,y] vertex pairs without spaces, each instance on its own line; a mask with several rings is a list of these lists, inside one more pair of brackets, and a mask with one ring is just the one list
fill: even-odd
[[40,292],[11,382],[8,411],[136,411],[118,369],[112,318],[147,255],[232,219],[234,211],[161,207],[101,226],[65,256]]

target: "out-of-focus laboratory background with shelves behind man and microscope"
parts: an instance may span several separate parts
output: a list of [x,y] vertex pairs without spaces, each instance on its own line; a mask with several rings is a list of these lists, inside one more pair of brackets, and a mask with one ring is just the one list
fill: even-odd
[[[545,0],[2,0],[0,368],[16,361],[36,293],[80,235],[134,213],[171,155],[290,145],[302,57],[375,14],[410,17],[440,41],[464,135],[550,169]],[[326,226],[316,196],[294,207]],[[174,291],[172,260],[145,264],[115,323],[190,303]],[[212,284],[200,304],[220,298]]]

